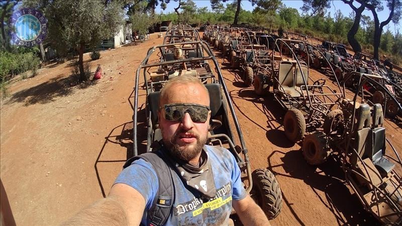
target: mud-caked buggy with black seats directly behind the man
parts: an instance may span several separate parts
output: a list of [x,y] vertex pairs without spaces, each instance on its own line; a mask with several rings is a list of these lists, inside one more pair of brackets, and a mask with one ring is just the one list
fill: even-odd
[[[210,94],[210,108],[211,108],[211,121],[210,131],[208,134],[208,145],[221,146],[228,149],[228,151],[235,157],[241,171],[242,181],[245,184],[245,189],[250,193],[251,197],[262,207],[266,215],[272,219],[276,217],[282,207],[282,196],[275,176],[267,169],[257,169],[251,172],[250,161],[248,157],[249,150],[246,147],[242,131],[239,126],[238,119],[230,98],[229,91],[226,87],[225,80],[221,74],[219,64],[212,53],[211,48],[206,42],[190,42],[181,43],[181,46],[191,44],[196,45],[200,52],[205,53],[202,56],[197,57],[179,57],[173,60],[159,61],[155,55],[155,52],[159,50],[159,53],[163,55],[163,49],[170,44],[158,45],[148,50],[147,56],[142,61],[141,65],[136,71],[135,88],[134,88],[134,129],[133,129],[133,141],[134,141],[134,155],[138,155],[138,144],[146,143],[146,151],[153,150],[152,144],[162,139],[161,130],[158,128],[158,108],[160,91],[152,88],[156,82],[153,81],[152,73],[157,71],[159,74],[163,74],[158,84],[163,84],[171,78],[169,74],[175,76],[196,76],[202,80]],[[180,49],[180,47],[176,47]],[[177,52],[184,52],[183,50]],[[152,59],[157,59],[153,62]],[[199,62],[207,62],[207,65],[213,65],[216,74],[210,73],[207,80],[204,80],[204,75],[198,74],[198,71],[192,71],[187,73],[189,68],[193,65],[198,65]],[[186,67],[185,67],[186,66]],[[143,79],[145,81],[146,90],[146,120],[143,122],[147,128],[146,141],[138,140],[139,138],[139,117],[138,117],[138,96],[139,96],[139,82],[140,74],[143,73]],[[184,72],[184,74],[183,74]],[[163,79],[162,79],[163,78]],[[151,87],[149,87],[151,86]],[[234,125],[235,130],[232,130]],[[236,135],[236,136],[234,136]],[[237,142],[239,141],[239,142]]]

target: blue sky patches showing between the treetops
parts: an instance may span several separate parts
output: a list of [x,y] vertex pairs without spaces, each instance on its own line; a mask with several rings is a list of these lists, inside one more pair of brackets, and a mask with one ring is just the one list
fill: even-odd
[[[208,7],[209,10],[211,10],[211,3],[209,0],[193,0],[195,2],[196,6],[198,8],[202,7]],[[228,1],[229,3],[232,3],[232,1]],[[225,4],[225,3],[224,3]],[[282,0],[282,4],[284,4],[286,7],[294,8],[297,9],[300,14],[302,14],[302,8],[303,6],[303,1],[302,0]],[[169,4],[167,4],[167,9],[164,11],[165,13],[170,13],[174,12],[174,8],[178,6],[178,2],[174,2],[173,0],[170,1]],[[360,4],[355,3],[354,6],[359,7]],[[381,12],[378,12],[378,19],[380,22],[386,20],[389,16],[389,10],[385,6],[385,3],[383,3],[384,10]],[[242,9],[247,10],[247,11],[252,11],[255,7],[251,5],[251,3],[247,0],[242,1]],[[343,3],[340,0],[333,0],[331,3],[331,9],[328,12],[331,12],[331,17],[335,15],[335,12],[337,10],[341,10],[342,14],[345,17],[349,17],[349,14],[352,12],[352,9],[349,7],[349,5]],[[160,13],[162,10],[158,6],[156,9],[156,12]],[[363,15],[369,16],[371,19],[373,18],[371,12],[365,10],[363,12]],[[395,33],[395,29],[399,29],[399,32],[402,32],[402,20],[399,21],[397,25],[394,25],[392,22],[389,23],[384,30],[389,28],[389,30],[392,33]]]

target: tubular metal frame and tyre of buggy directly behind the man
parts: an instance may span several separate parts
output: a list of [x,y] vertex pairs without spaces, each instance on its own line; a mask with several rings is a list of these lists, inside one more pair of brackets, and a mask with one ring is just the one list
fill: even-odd
[[[183,43],[184,44],[184,43]],[[157,63],[148,63],[150,56],[152,53],[154,53],[157,49],[159,49],[161,52],[165,47],[167,47],[170,44],[165,44],[165,45],[158,45],[155,47],[152,47],[148,50],[147,56],[145,59],[142,61],[140,66],[138,67],[136,71],[136,76],[135,76],[135,86],[134,86],[134,115],[133,115],[133,152],[134,155],[138,155],[138,131],[137,131],[137,125],[138,125],[138,116],[137,116],[137,109],[138,109],[138,92],[139,92],[139,78],[140,78],[140,72],[141,70],[144,70],[144,81],[145,81],[145,89],[147,92],[147,99],[146,99],[146,118],[147,118],[147,127],[148,127],[148,132],[147,132],[147,152],[152,150],[151,143],[154,141],[158,141],[156,138],[158,137],[156,135],[156,131],[159,130],[156,126],[157,124],[157,117],[155,118],[155,114],[157,114],[155,111],[155,104],[157,104],[157,108],[159,105],[159,100],[155,100],[155,96],[159,98],[159,92],[154,91],[152,88],[148,87],[147,83],[147,73],[146,69],[151,68],[151,67],[163,67],[163,66],[168,66],[168,65],[173,65],[173,64],[185,64],[191,61],[207,61],[210,60],[214,63],[216,72],[218,74],[218,80],[215,80],[215,78],[212,78],[212,83],[206,84],[206,87],[208,88],[210,92],[210,100],[211,100],[211,122],[210,123],[216,123],[217,121],[220,121],[218,125],[220,124],[220,127],[215,129],[214,126],[211,126],[211,131],[209,132],[208,136],[208,141],[210,145],[219,145],[222,147],[223,143],[227,144],[229,148],[227,148],[235,157],[241,171],[246,174],[248,184],[247,186],[245,185],[246,191],[251,194],[251,196],[256,199],[256,202],[262,207],[264,212],[268,215],[269,218],[274,218],[276,217],[281,209],[282,206],[282,199],[281,199],[281,193],[280,189],[273,190],[272,187],[266,188],[267,182],[262,182],[262,180],[267,179],[269,177],[270,184],[271,186],[278,186],[277,181],[274,177],[274,175],[266,169],[257,169],[253,173],[251,173],[251,166],[250,166],[250,161],[248,157],[248,150],[246,148],[246,144],[243,138],[242,131],[240,129],[240,125],[238,122],[238,119],[236,117],[234,107],[232,100],[230,98],[229,91],[226,87],[225,80],[222,76],[221,70],[219,68],[219,64],[215,58],[215,55],[212,53],[211,48],[206,42],[198,41],[198,42],[189,42],[185,44],[195,44],[203,49],[204,52],[207,53],[207,56],[200,56],[196,58],[182,58],[178,60],[173,60],[173,61],[161,61]],[[166,82],[161,81],[162,83]],[[152,85],[152,83],[151,83]],[[211,87],[215,86],[218,88],[215,88],[215,92],[211,91]],[[213,88],[213,87],[212,87]],[[212,89],[214,90],[214,89]],[[218,104],[216,104],[218,101]],[[220,101],[220,102],[219,102]],[[218,109],[217,106],[219,105]],[[157,109],[156,108],[156,109]],[[229,124],[229,115],[227,108],[230,109],[230,114],[232,116],[232,121],[233,124],[236,127],[237,131],[237,138],[240,141],[240,146],[236,145],[236,142],[234,140],[234,136],[232,133],[231,126]],[[218,116],[218,114],[221,114]],[[220,120],[214,119],[214,117],[217,117]],[[219,118],[221,117],[221,118]],[[215,121],[214,121],[215,120]],[[159,136],[161,137],[161,136]],[[240,153],[243,154],[244,159],[240,156]],[[242,173],[242,175],[244,175]],[[242,180],[243,180],[242,176]],[[266,180],[264,180],[266,181]],[[274,184],[276,183],[276,184]],[[254,185],[254,189],[253,189]],[[269,190],[269,188],[272,190],[270,191],[270,195],[268,196],[266,193],[266,190]],[[278,187],[279,188],[279,187]],[[279,193],[277,193],[279,190]],[[272,200],[274,199],[274,200]]]

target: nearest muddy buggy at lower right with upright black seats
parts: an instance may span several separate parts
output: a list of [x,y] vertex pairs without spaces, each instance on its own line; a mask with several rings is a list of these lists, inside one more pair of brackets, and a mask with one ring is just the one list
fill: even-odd
[[[357,90],[367,83],[375,83],[378,90],[396,101],[373,75],[362,74]],[[401,225],[402,178],[397,171],[402,163],[386,138],[383,123],[381,104],[356,91],[353,100],[341,100],[340,108],[328,113],[322,131],[306,136],[302,151],[312,165],[324,163],[330,152],[337,153],[345,179],[364,209],[384,225]]]

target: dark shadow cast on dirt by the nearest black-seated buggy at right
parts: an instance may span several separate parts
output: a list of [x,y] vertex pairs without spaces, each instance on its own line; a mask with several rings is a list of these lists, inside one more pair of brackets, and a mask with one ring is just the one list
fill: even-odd
[[[283,162],[280,165],[272,165],[273,155],[280,155]],[[331,155],[327,162],[320,166],[311,166],[304,161],[300,150],[293,150],[287,153],[274,151],[268,156],[268,169],[276,176],[284,176],[301,179],[308,184],[316,193],[320,201],[334,214],[339,225],[377,225],[376,219],[366,212],[358,197],[351,192],[345,181],[344,172],[341,168],[342,162],[338,155]],[[277,167],[282,167],[287,174],[279,173]],[[325,197],[319,191],[324,192]],[[283,201],[289,207],[300,224],[303,221],[297,217],[290,203],[284,194]],[[314,207],[312,207],[314,208]],[[311,210],[314,213],[314,209]]]

